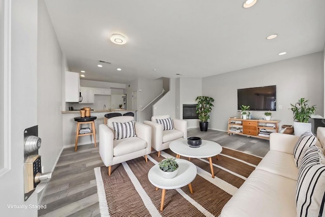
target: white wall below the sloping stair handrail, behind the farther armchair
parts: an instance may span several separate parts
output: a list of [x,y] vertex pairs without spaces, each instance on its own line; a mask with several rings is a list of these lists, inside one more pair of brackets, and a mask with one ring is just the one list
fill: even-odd
[[152,108],[152,116],[155,115],[164,115],[169,114],[172,118],[176,117],[176,79],[171,78],[170,79],[170,90],[164,95],[163,98],[161,98],[158,102],[156,102]]

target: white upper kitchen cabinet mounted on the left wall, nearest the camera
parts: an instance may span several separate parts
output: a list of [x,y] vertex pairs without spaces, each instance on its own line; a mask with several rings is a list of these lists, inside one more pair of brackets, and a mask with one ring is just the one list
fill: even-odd
[[66,72],[64,82],[66,102],[79,102],[79,73]]

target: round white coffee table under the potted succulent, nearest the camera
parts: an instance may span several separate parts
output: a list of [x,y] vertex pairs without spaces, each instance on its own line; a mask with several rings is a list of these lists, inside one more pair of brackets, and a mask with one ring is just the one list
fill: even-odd
[[197,167],[186,160],[176,159],[178,172],[174,178],[166,179],[161,175],[158,164],[154,165],[148,172],[148,179],[156,187],[156,191],[162,189],[160,211],[164,209],[166,189],[179,189],[188,184],[189,192],[193,194],[191,182],[197,176]]

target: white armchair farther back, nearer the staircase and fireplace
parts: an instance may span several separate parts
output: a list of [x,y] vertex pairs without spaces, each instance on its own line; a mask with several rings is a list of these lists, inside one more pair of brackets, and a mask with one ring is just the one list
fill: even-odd
[[158,151],[158,157],[160,157],[160,151],[169,148],[169,143],[176,139],[187,138],[187,121],[180,119],[173,119],[173,130],[164,130],[163,125],[156,122],[156,119],[170,118],[170,115],[157,115],[152,116],[151,121],[145,120],[144,123],[152,128],[151,131],[151,146]]

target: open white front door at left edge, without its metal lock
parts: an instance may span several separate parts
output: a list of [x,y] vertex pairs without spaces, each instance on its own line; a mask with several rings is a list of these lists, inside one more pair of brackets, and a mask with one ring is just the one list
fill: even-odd
[[0,152],[5,157],[0,158],[2,216],[38,213],[29,208],[29,204],[37,205],[36,193],[24,202],[23,180],[24,129],[37,125],[37,14],[38,1],[0,0],[0,71],[4,72],[0,104],[5,107],[0,110],[4,125],[0,128]]

